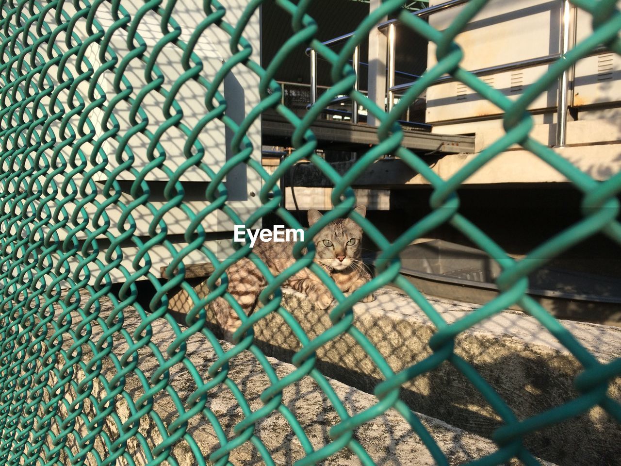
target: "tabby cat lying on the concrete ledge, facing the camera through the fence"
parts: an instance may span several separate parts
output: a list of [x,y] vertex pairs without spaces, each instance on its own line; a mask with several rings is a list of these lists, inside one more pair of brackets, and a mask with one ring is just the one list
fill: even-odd
[[[356,212],[365,216],[366,207],[356,207]],[[322,214],[316,210],[308,212],[309,226],[313,226]],[[337,219],[330,222],[317,235],[314,261],[332,276],[343,293],[350,294],[360,288],[371,276],[361,261],[362,229],[351,219]],[[277,276],[296,260],[293,257],[294,242],[261,242],[257,240],[253,252],[265,262],[270,272]],[[306,249],[304,249],[306,254]],[[258,296],[267,285],[265,277],[250,259],[242,258],[227,269],[229,293],[242,306],[248,315],[255,308]],[[220,284],[220,281],[217,282]],[[283,286],[301,291],[320,309],[326,309],[332,303],[333,296],[328,288],[309,269],[303,268],[283,283]],[[373,301],[368,295],[363,302]],[[242,324],[239,316],[225,301],[217,298],[212,303],[215,318],[224,330],[224,338],[231,339],[235,330]]]

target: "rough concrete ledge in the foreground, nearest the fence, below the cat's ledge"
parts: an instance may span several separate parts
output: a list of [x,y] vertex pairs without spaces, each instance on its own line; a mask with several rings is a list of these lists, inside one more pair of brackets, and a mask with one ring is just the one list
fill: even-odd
[[[85,301],[86,296],[83,296],[83,302]],[[101,304],[99,322],[101,322],[101,319],[107,319],[112,310],[112,304],[109,301],[102,299]],[[57,309],[57,313],[60,313],[60,309]],[[124,309],[122,315],[124,329],[129,334],[134,334],[134,331],[142,323],[142,319],[132,308]],[[117,316],[116,319],[119,317]],[[81,322],[79,314],[71,314],[71,321],[72,327],[75,328]],[[165,354],[165,359],[168,359],[166,350],[169,349],[176,338],[173,331],[174,325],[174,322],[168,319],[156,319],[151,324],[151,341]],[[96,342],[101,336],[102,329],[97,321],[94,321],[90,340]],[[73,339],[68,334],[65,334],[63,342],[65,350],[68,350],[72,343]],[[231,345],[226,343],[222,346],[225,350],[231,348]],[[93,354],[87,344],[83,344],[82,348],[84,354],[81,360],[84,363],[88,363],[89,360],[93,359]],[[128,345],[124,337],[117,333],[116,337],[114,337],[112,354],[120,359],[127,349]],[[216,359],[215,352],[204,336],[201,334],[189,336],[186,340],[186,346],[183,347],[182,345],[178,350],[185,351],[186,357],[193,363],[202,381],[212,380],[207,374],[207,368]],[[60,358],[57,367],[60,367],[62,360],[63,358]],[[286,377],[286,375],[295,370],[288,363],[271,358],[268,360],[279,378]],[[134,357],[127,364],[132,361],[137,363],[135,369],[140,370],[147,380],[150,380],[153,373],[161,366],[161,362],[158,361],[149,347],[141,347],[137,353],[134,353]],[[110,357],[104,358],[102,360],[102,376],[107,381],[110,381],[116,373],[117,368],[112,363],[112,359]],[[188,368],[182,363],[176,363],[166,376],[170,386],[175,390],[176,396],[178,396],[178,403],[183,404],[184,409],[190,409],[188,399],[197,390],[198,385],[196,380],[191,377]],[[79,381],[83,380],[83,378],[83,370],[75,367],[73,380]],[[270,381],[263,368],[260,367],[255,357],[247,351],[242,352],[230,362],[228,379],[228,385],[219,384],[205,394],[205,408],[202,413],[198,413],[189,419],[187,424],[188,433],[195,439],[197,449],[205,458],[209,457],[212,452],[220,447],[219,439],[213,427],[207,421],[205,413],[208,410],[212,413],[212,416],[220,423],[229,439],[235,437],[233,427],[245,417],[233,397],[232,390],[230,390],[231,384],[235,383],[253,411],[263,406],[259,396],[263,390],[270,386]],[[55,383],[55,380],[52,378],[49,385],[52,386],[53,383]],[[335,380],[330,380],[330,383],[351,415],[359,413],[377,403],[374,396],[361,390],[356,390]],[[138,400],[145,392],[145,388],[134,370],[127,373],[124,378],[124,390],[131,396],[132,400]],[[86,433],[84,418],[93,419],[94,403],[101,401],[106,393],[107,391],[102,381],[96,380],[93,384],[91,396],[84,403],[83,416],[78,418],[76,422],[76,430],[80,434]],[[65,398],[69,402],[74,397],[75,392],[73,391],[65,394]],[[118,420],[115,421],[112,416],[107,416],[106,426],[103,429],[105,434],[110,437],[111,442],[116,441],[119,437],[119,423],[125,423],[131,414],[123,394],[117,395],[114,400],[114,411],[112,414],[118,416]],[[304,377],[297,383],[285,388],[282,404],[290,409],[296,418],[299,419],[314,449],[319,449],[330,441],[327,432],[330,427],[340,421],[340,418],[312,378]],[[178,409],[175,407],[175,396],[171,395],[170,391],[158,391],[153,399],[153,412],[161,418],[162,423],[168,429],[168,426],[178,419],[179,415]],[[59,416],[55,418],[55,427],[52,430],[58,432],[58,423],[66,419],[66,417],[65,406],[60,406]],[[153,417],[153,415],[142,416],[137,426],[138,435],[142,435],[145,438],[145,442],[147,442],[150,449],[160,444],[163,437]],[[442,421],[428,416],[421,415],[420,418],[432,437],[438,442],[440,448],[445,452],[451,465],[463,464],[463,462],[483,457],[496,450],[496,446],[487,439],[482,439],[474,434],[451,427]],[[272,411],[268,416],[261,419],[256,424],[254,432],[270,451],[271,456],[278,465],[290,465],[306,455],[300,442],[294,436],[291,427],[278,411]],[[174,434],[175,432],[166,433],[166,435]],[[393,409],[359,427],[356,430],[355,436],[378,465],[435,464],[419,438],[415,436],[409,425]],[[75,453],[76,439],[70,435],[67,440],[68,449]],[[120,457],[117,464],[128,464],[127,456],[130,456],[135,464],[145,464],[147,462],[147,455],[144,454],[142,448],[137,438],[131,437],[127,442],[125,456]],[[101,436],[97,438],[96,450],[102,459],[109,457],[111,453],[106,450]],[[195,464],[194,452],[183,438],[173,445],[172,452],[179,465],[189,466]],[[60,461],[63,464],[69,463],[70,459],[67,457],[66,452],[63,452]],[[258,450],[248,441],[230,452],[229,461],[232,464],[238,465],[263,464]],[[87,464],[94,465],[96,463],[97,461],[93,455],[89,455]],[[355,455],[345,449],[332,455],[322,464],[356,465],[360,464],[360,462]],[[512,462],[511,464],[517,464],[517,462]]]

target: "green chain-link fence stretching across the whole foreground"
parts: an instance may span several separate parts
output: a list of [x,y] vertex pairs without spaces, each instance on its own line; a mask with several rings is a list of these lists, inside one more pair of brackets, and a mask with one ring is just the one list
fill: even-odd
[[[438,63],[417,80],[390,113],[369,101],[355,90],[355,75],[350,66],[356,45],[366,40],[369,31],[386,15],[397,13],[403,0],[391,0],[371,12],[356,29],[356,34],[339,53],[315,39],[317,25],[305,11],[309,0],[294,3],[276,0],[276,4],[291,15],[291,38],[283,44],[270,63],[262,68],[253,55],[252,45],[245,39],[247,25],[255,17],[263,0],[249,0],[237,21],[232,21],[227,5],[205,0],[202,17],[194,30],[183,31],[175,19],[176,1],[152,0],[138,6],[113,0],[75,0],[39,2],[35,0],[2,0],[0,20],[0,243],[2,307],[0,357],[0,462],[2,464],[129,464],[145,462],[177,464],[171,456],[173,445],[186,442],[188,455],[198,464],[227,464],[229,452],[251,442],[261,460],[273,464],[270,451],[255,432],[255,424],[278,411],[291,425],[306,456],[298,464],[315,464],[342,449],[349,449],[363,464],[373,464],[354,435],[356,428],[378,418],[389,409],[396,409],[427,446],[438,464],[446,464],[445,452],[438,447],[417,414],[399,398],[399,388],[409,380],[450,363],[481,391],[490,406],[502,419],[502,426],[492,436],[496,451],[473,464],[502,464],[517,457],[524,464],[538,460],[523,447],[522,439],[529,432],[561,423],[599,405],[621,423],[621,404],[609,398],[609,381],[621,374],[621,358],[600,363],[572,334],[540,305],[526,295],[527,276],[569,247],[597,232],[621,244],[621,224],[615,219],[619,212],[616,196],[621,190],[621,173],[605,182],[596,182],[551,148],[529,136],[532,119],[527,107],[564,70],[601,45],[621,53],[621,12],[615,0],[572,0],[574,6],[592,16],[593,32],[578,43],[561,60],[553,63],[537,82],[511,101],[497,89],[460,67],[463,52],[454,39],[468,22],[487,3],[471,0],[443,32],[409,12],[399,13],[401,24],[414,29],[437,45]],[[226,3],[226,2],[225,2]],[[102,11],[109,21],[101,21]],[[130,13],[130,11],[132,11]],[[141,37],[141,24],[147,18],[157,21],[148,26],[156,39],[148,42]],[[284,27],[284,25],[283,25]],[[204,64],[194,53],[201,35],[208,28],[217,28],[228,37],[230,57],[219,62],[214,73],[204,73]],[[183,35],[185,33],[186,35]],[[123,37],[124,52],[115,47],[114,38]],[[279,66],[286,63],[288,54],[298,46],[312,47],[332,66],[333,85],[299,118],[281,104],[281,86],[273,80]],[[178,77],[165,82],[157,63],[165,47],[179,51]],[[91,53],[95,50],[94,53]],[[131,66],[143,70],[145,83],[140,92],[132,88],[128,78]],[[256,78],[260,103],[243,119],[230,116],[232,106],[220,92],[222,83],[233,68],[243,68]],[[504,111],[505,135],[483,152],[471,158],[448,180],[440,178],[416,153],[401,147],[402,129],[399,116],[434,80],[449,73],[456,80],[489,99]],[[102,76],[112,76],[111,86],[104,88]],[[179,89],[193,83],[200,94],[193,105],[200,107],[201,116],[194,126],[183,122]],[[243,83],[242,86],[243,88]],[[250,91],[251,89],[246,89]],[[148,94],[161,96],[163,121],[155,128],[148,126],[148,116],[142,105]],[[339,175],[324,158],[315,153],[315,139],[309,129],[330,101],[347,94],[381,122],[379,144],[360,157],[345,175]],[[119,122],[117,114],[123,108],[127,124]],[[248,129],[261,113],[275,109],[295,127],[292,136],[294,152],[268,175],[261,163],[253,158],[260,147],[252,144]],[[209,148],[199,142],[199,134],[208,124],[217,122],[232,134],[233,153],[220,167],[207,162]],[[165,136],[175,132],[181,140],[184,162],[171,168],[167,163],[169,148]],[[135,139],[145,137],[146,162],[138,167]],[[132,145],[134,144],[134,145]],[[534,153],[551,167],[560,171],[577,190],[584,193],[583,219],[550,237],[527,255],[516,261],[505,254],[485,232],[460,213],[456,190],[460,184],[503,150],[519,144]],[[371,163],[390,153],[401,158],[420,173],[433,187],[433,211],[416,221],[394,242],[389,242],[371,222],[353,212],[356,200],[351,189],[353,181]],[[309,229],[305,244],[299,244],[297,254],[309,244],[309,252],[287,273],[271,276],[265,264],[242,247],[227,257],[221,257],[208,243],[208,219],[214,212],[220,219],[229,217],[235,224],[256,224],[267,213],[276,214],[292,227],[301,227],[296,217],[281,205],[279,178],[299,160],[306,158],[333,182],[332,202],[335,209]],[[225,188],[227,175],[245,164],[248,170],[262,178],[258,193],[261,208],[251,211],[247,218],[238,217]],[[138,168],[137,168],[138,167]],[[207,176],[209,183],[201,191],[206,201],[201,209],[189,208],[183,176],[194,170]],[[153,201],[150,176],[158,171],[165,178],[161,183],[161,199]],[[129,180],[129,181],[128,181]],[[196,193],[193,193],[196,199]],[[109,215],[119,209],[120,216]],[[140,210],[142,209],[142,211]],[[351,219],[360,224],[366,235],[381,250],[376,276],[351,296],[345,297],[330,283],[325,271],[312,261],[314,248],[311,237],[345,209]],[[140,218],[137,212],[142,212]],[[165,216],[181,212],[188,223],[184,225],[184,247],[176,247],[170,239],[170,221]],[[144,212],[147,212],[145,219]],[[138,235],[140,222],[146,222],[147,234]],[[495,258],[502,267],[497,279],[500,295],[456,322],[448,324],[409,281],[399,275],[399,252],[413,240],[437,226],[449,223],[481,249]],[[114,231],[112,231],[114,229]],[[151,272],[156,247],[166,250],[172,260],[166,274],[172,277],[160,281]],[[212,293],[199,298],[185,280],[184,259],[200,252],[215,265],[208,281]],[[130,257],[128,255],[131,254]],[[226,284],[216,280],[235,260],[248,256],[269,277],[270,286],[260,296],[264,304],[260,311],[243,321],[237,332],[237,345],[227,350],[206,326],[206,306],[217,296],[226,293]],[[220,260],[219,260],[220,259]],[[330,311],[332,327],[314,339],[309,339],[302,327],[291,318],[281,303],[278,286],[297,270],[310,267],[329,286],[337,306]],[[173,270],[178,269],[177,275]],[[150,280],[156,292],[150,304],[138,301],[137,281]],[[123,283],[113,292],[113,281]],[[352,305],[366,294],[392,283],[402,290],[427,314],[437,331],[428,341],[432,354],[411,367],[395,373],[367,337],[353,326]],[[168,314],[166,293],[181,286],[194,299],[193,310],[186,318],[187,326],[179,326]],[[270,296],[271,299],[270,299]],[[111,303],[112,311],[102,314],[102,303]],[[453,352],[454,339],[474,324],[490,318],[511,304],[519,303],[536,318],[552,336],[581,363],[584,370],[575,378],[579,393],[574,400],[526,419],[518,419],[505,401],[491,388],[476,370]],[[124,325],[127,309],[135,309],[140,324],[132,332]],[[301,350],[293,357],[296,370],[278,378],[270,362],[253,342],[252,326],[268,313],[279,313],[292,327],[301,342]],[[288,317],[289,316],[289,317]],[[153,322],[165,319],[175,339],[155,344]],[[371,357],[384,380],[374,388],[376,403],[361,412],[350,414],[333,391],[330,381],[315,367],[315,351],[340,334],[349,334]],[[204,344],[211,345],[217,359],[202,374],[186,355],[188,342],[202,335]],[[122,347],[122,354],[113,347]],[[242,391],[229,377],[236,358],[242,350],[250,350],[261,364],[270,384],[262,387],[263,406],[252,411]],[[140,369],[140,360],[150,354],[158,368],[148,377]],[[176,395],[170,380],[171,369],[183,365],[196,388],[182,399]],[[103,370],[112,367],[112,371]],[[140,381],[140,393],[129,390],[130,377]],[[282,402],[283,391],[304,377],[311,377],[325,392],[337,411],[339,421],[330,427],[331,442],[314,450],[307,434],[293,411]],[[243,420],[232,431],[226,431],[207,403],[214,391],[230,390],[235,403],[243,411]],[[158,396],[166,394],[173,400],[176,416],[161,418],[154,408]],[[155,401],[154,401],[155,400]],[[117,410],[125,406],[127,418],[121,419]],[[204,457],[189,426],[197,418],[206,419],[212,426],[219,448]],[[149,443],[138,426],[149,419],[158,432],[159,442]],[[111,429],[111,426],[114,429]],[[111,434],[111,431],[117,432]],[[135,442],[134,452],[129,446]],[[104,449],[97,449],[102,442]],[[137,446],[136,446],[137,445]],[[413,464],[416,459],[412,459]]]

